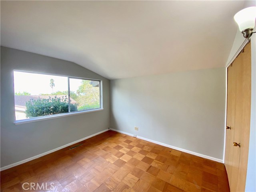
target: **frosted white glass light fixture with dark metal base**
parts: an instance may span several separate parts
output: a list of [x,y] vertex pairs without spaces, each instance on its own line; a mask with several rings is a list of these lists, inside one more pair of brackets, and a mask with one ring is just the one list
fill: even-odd
[[255,18],[256,18],[256,7],[248,7],[240,10],[234,16],[235,21],[239,26],[239,30],[244,35],[244,38],[250,38],[253,33],[252,32],[255,26]]

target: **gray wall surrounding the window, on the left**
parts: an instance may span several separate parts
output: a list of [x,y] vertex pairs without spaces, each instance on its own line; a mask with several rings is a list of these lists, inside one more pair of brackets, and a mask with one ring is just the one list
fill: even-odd
[[[13,70],[102,80],[102,111],[15,125]],[[73,62],[1,47],[1,167],[109,127],[110,81]]]

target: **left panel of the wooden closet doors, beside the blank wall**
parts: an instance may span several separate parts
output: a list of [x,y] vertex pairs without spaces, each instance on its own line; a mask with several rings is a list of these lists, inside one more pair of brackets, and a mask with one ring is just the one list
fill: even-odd
[[238,147],[234,148],[233,142],[234,138],[238,137],[237,132],[239,130],[237,124],[240,121],[239,113],[241,110],[241,102],[238,100],[238,95],[240,94],[240,82],[242,79],[239,74],[241,61],[242,55],[240,54],[233,62],[232,66],[228,67],[227,126],[231,129],[226,129],[225,164],[228,173],[230,191],[236,190],[240,158],[240,149]]

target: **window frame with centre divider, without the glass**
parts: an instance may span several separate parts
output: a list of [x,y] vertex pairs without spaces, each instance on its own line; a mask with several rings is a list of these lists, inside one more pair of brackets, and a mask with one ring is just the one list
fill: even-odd
[[[66,116],[72,116],[72,115],[77,115],[77,114],[84,114],[84,113],[90,113],[90,112],[96,112],[96,111],[104,110],[104,108],[103,108],[103,95],[102,95],[102,80],[91,79],[91,78],[83,78],[83,77],[76,77],[76,76],[50,74],[50,73],[43,73],[43,72],[31,72],[31,71],[24,71],[24,70],[13,70],[13,72],[12,72],[12,75],[13,75],[12,80],[13,80],[14,113],[15,113],[14,72],[25,72],[25,73],[42,74],[42,75],[53,75],[53,76],[61,76],[61,77],[67,77],[68,78],[68,113],[54,114],[54,115],[47,115],[47,116],[40,116],[40,117],[33,117],[33,118],[22,119],[22,120],[16,120],[16,116],[14,115],[14,119],[15,119],[14,120],[14,124],[16,124],[16,125],[17,124],[24,124],[24,123],[29,123],[29,122],[49,120],[49,119],[55,119],[55,118],[60,118],[60,117],[66,117]],[[69,81],[70,78],[72,78],[72,79],[80,79],[80,80],[98,81],[99,82],[99,90],[100,90],[100,108],[70,112],[70,81]]]

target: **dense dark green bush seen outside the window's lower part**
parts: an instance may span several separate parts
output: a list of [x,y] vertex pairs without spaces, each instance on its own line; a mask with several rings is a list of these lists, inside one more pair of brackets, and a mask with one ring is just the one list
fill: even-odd
[[[77,106],[70,104],[70,111],[76,111]],[[46,116],[68,113],[68,98],[62,96],[62,98],[49,97],[48,99],[38,98],[37,100],[30,99],[26,102],[25,114],[27,118]]]

